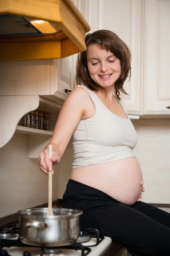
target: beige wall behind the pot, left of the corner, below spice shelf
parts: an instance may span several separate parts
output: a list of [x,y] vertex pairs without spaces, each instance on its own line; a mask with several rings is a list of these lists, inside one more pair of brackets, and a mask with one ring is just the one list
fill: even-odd
[[[27,135],[15,134],[0,149],[0,217],[48,202],[48,176],[37,163],[28,159]],[[58,174],[53,175],[53,199],[58,198]]]

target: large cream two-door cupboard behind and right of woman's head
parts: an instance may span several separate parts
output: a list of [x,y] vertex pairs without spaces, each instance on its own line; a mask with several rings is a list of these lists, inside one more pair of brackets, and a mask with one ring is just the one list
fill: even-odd
[[128,96],[122,96],[127,112],[170,115],[170,0],[80,0],[80,6],[84,2],[91,32],[109,29],[132,52]]

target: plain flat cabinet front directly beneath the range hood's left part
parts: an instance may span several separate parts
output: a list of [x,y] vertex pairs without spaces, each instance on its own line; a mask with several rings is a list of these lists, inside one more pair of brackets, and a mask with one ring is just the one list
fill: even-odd
[[51,60],[0,61],[0,96],[50,94]]

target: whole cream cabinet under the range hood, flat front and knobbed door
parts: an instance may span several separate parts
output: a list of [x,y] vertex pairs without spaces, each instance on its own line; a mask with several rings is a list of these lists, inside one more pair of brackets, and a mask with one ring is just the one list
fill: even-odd
[[59,104],[71,90],[71,57],[0,61],[0,96],[39,95]]

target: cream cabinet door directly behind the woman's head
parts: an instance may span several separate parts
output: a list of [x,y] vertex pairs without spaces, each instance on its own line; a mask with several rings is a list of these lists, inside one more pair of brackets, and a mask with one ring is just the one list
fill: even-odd
[[[81,0],[82,2],[83,0]],[[142,113],[142,0],[88,0],[87,21],[91,32],[108,29],[115,32],[131,49],[132,75],[123,95],[129,114]]]

